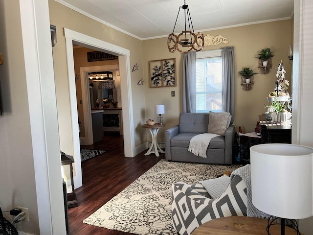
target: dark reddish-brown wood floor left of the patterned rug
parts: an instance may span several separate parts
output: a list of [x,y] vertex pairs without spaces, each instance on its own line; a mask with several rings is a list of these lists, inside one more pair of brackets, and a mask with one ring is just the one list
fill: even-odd
[[109,134],[103,141],[89,149],[104,149],[107,153],[82,163],[83,186],[75,190],[78,207],[68,211],[70,235],[132,235],[84,224],[83,220],[112,197],[134,182],[140,175],[155,165],[165,154],[145,156],[144,152],[134,158],[124,157],[123,137]]

